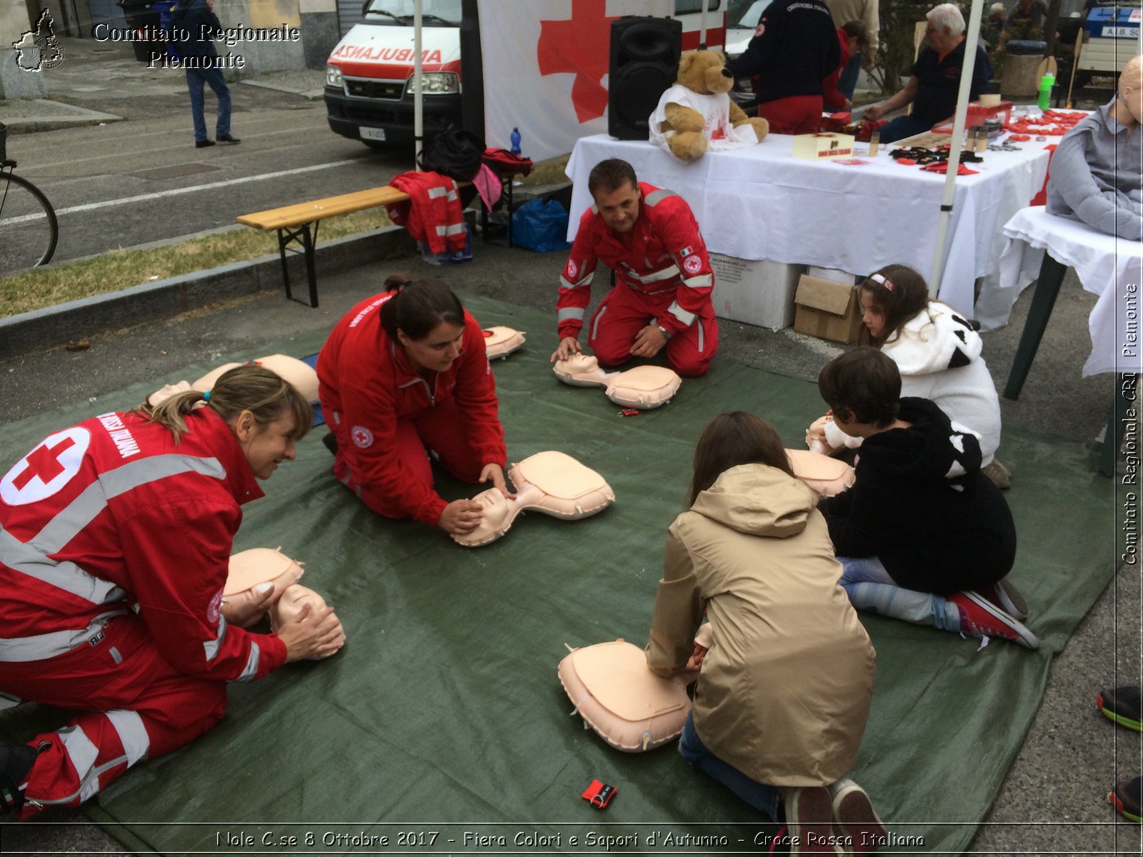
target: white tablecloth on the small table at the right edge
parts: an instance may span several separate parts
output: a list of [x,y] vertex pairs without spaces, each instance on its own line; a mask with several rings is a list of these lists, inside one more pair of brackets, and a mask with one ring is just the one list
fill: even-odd
[[1052,258],[1076,269],[1085,291],[1100,296],[1088,318],[1092,354],[1085,376],[1143,371],[1143,243],[1049,215],[1042,206],[1017,211],[1004,233],[1008,241],[1000,257],[1000,286],[1013,301],[1039,274],[1046,248]]

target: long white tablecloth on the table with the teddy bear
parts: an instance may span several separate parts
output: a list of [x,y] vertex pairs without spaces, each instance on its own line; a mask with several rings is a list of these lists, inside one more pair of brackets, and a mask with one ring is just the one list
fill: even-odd
[[[949,227],[942,301],[973,313],[976,278],[996,281],[1000,225],[1039,192],[1047,175],[1044,143],[1020,152],[989,152],[975,176],[958,176]],[[708,152],[686,163],[641,141],[607,135],[576,142],[568,239],[591,205],[588,174],[622,158],[640,181],[668,187],[690,205],[706,246],[743,259],[836,267],[864,275],[882,265],[910,265],[928,279],[933,267],[944,175],[897,165],[881,146],[869,166],[794,158],[793,137],[772,134],[757,146]],[[865,146],[860,146],[865,149]]]

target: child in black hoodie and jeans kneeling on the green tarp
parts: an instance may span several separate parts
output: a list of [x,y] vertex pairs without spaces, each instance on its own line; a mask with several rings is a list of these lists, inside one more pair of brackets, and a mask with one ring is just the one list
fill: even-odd
[[828,363],[817,389],[834,424],[864,439],[853,488],[825,506],[854,607],[1037,648],[1004,580],[1016,528],[976,435],[927,399],[901,399],[896,363],[874,349]]

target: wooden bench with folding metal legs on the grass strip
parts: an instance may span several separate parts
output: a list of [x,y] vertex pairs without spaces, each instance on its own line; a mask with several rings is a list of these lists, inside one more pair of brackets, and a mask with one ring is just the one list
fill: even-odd
[[[409,194],[395,187],[384,185],[373,187],[368,191],[355,193],[343,193],[341,197],[327,197],[326,199],[313,200],[313,202],[299,202],[294,206],[282,206],[271,208],[265,211],[241,215],[238,222],[253,226],[257,230],[278,231],[278,251],[282,261],[282,279],[286,282],[286,297],[297,301],[290,293],[289,270],[286,266],[286,253],[302,253],[305,256],[305,275],[310,282],[310,306],[318,305],[318,274],[313,259],[313,248],[318,241],[318,226],[327,217],[363,211],[368,208],[378,208],[391,202],[403,202]],[[301,246],[301,250],[290,247],[291,243]],[[303,303],[298,301],[298,303]]]

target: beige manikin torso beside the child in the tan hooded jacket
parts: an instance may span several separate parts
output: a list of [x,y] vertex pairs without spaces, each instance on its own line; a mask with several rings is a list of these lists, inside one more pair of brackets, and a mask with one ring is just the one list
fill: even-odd
[[[711,626],[703,625],[696,639],[710,648]],[[679,737],[692,707],[686,688],[697,672],[656,675],[644,650],[623,640],[568,649],[557,672],[585,729],[629,753]]]

